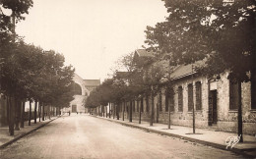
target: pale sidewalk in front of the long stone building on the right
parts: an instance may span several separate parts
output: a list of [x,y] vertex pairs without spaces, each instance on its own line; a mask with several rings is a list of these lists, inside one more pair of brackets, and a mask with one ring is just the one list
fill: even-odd
[[133,127],[137,129],[141,129],[147,132],[157,132],[162,135],[168,135],[173,137],[178,137],[181,139],[189,140],[192,142],[197,142],[209,146],[213,146],[216,148],[230,150],[239,154],[243,154],[247,157],[256,157],[256,136],[252,135],[243,135],[243,143],[237,143],[232,148],[230,146],[226,149],[225,140],[228,136],[237,136],[236,133],[231,132],[214,132],[208,131],[205,129],[197,129],[196,133],[193,134],[193,129],[189,127],[181,127],[181,126],[170,126],[170,130],[167,129],[167,125],[154,123],[153,126],[150,126],[149,122],[142,121],[142,124],[139,124],[139,121],[133,120],[130,123],[127,119],[122,121],[122,118],[119,120],[109,119],[105,117],[98,117],[99,119],[108,120],[110,122],[119,123],[124,126]]

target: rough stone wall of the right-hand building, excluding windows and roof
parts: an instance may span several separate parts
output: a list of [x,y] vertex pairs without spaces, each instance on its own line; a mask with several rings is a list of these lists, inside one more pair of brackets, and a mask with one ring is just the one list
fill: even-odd
[[[217,89],[217,124],[209,126],[209,89],[210,80],[202,77],[193,78],[193,84],[196,81],[201,82],[202,88],[202,109],[195,110],[195,124],[196,128],[214,129],[215,131],[223,132],[237,132],[237,110],[229,110],[229,80],[227,79],[228,73],[221,75],[221,79],[215,81]],[[191,78],[179,79],[175,81],[174,86],[174,111],[170,113],[171,125],[192,127],[193,114],[188,111],[188,84],[192,83]],[[178,111],[178,86],[183,88],[183,111]],[[250,82],[242,83],[242,120],[243,132],[255,134],[256,133],[256,111],[251,110],[251,93]],[[196,99],[196,89],[193,88],[193,99]],[[164,89],[162,90],[164,92]],[[168,112],[165,112],[165,96],[161,93],[161,107],[162,111],[157,114],[157,105],[159,102],[159,94],[154,98],[154,122],[157,122],[159,116],[159,123],[168,123]],[[150,111],[146,111],[146,100],[143,100],[144,112],[142,112],[142,120],[150,121],[151,117],[151,98],[149,97]],[[140,104],[139,104],[140,106]],[[159,105],[160,106],[160,105]],[[133,112],[133,119],[139,119],[137,112],[138,103],[135,102],[135,112]],[[160,110],[160,109],[159,109]],[[127,118],[127,111],[125,117]],[[122,112],[120,112],[122,117]]]

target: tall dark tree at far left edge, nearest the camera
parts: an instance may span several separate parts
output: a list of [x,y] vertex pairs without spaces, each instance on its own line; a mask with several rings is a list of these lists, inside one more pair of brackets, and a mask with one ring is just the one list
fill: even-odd
[[[22,16],[23,14],[27,13],[29,14],[28,10],[29,8],[32,7],[32,0],[23,0],[23,1],[20,1],[20,0],[15,0],[15,1],[11,1],[11,0],[2,0],[0,1],[0,7],[4,7],[6,9],[11,9],[12,10],[12,23],[10,21],[10,19],[8,20],[8,16],[5,16],[1,10],[1,13],[0,13],[0,33],[1,33],[1,39],[0,39],[0,43],[1,43],[1,46],[0,46],[0,51],[1,51],[1,64],[14,64],[13,63],[13,59],[10,59],[8,53],[11,52],[12,55],[11,57],[14,57],[15,55],[15,50],[13,49],[14,47],[10,47],[11,45],[15,45],[15,18],[17,18],[18,21],[20,20],[24,20],[25,18]],[[9,28],[11,28],[11,31],[12,31],[12,37],[10,35],[10,30]],[[12,39],[12,44],[11,44],[11,39]],[[3,45],[2,45],[3,44]],[[3,53],[3,54],[2,54]],[[2,67],[2,66],[1,66]],[[10,76],[13,78],[14,77],[14,68],[12,68],[12,66],[10,66],[10,69],[11,69],[11,72],[10,72]],[[1,68],[1,71],[2,71],[2,68]],[[11,78],[11,79],[12,79]],[[2,78],[1,78],[2,80]],[[16,84],[14,83],[15,80],[11,80],[9,82],[9,85],[7,87],[11,88],[11,89],[16,89]],[[14,96],[14,91],[13,90],[8,90],[8,95],[10,95],[8,97],[9,99],[9,132],[11,135],[14,134],[14,117],[13,117],[13,114],[14,114],[14,107],[18,107],[18,101],[17,101],[17,98]],[[12,104],[12,98],[15,98],[14,99],[14,103],[16,104],[16,106],[14,106]],[[18,112],[16,113],[18,114]],[[16,125],[18,126],[18,125]],[[17,128],[17,130],[19,130]]]

